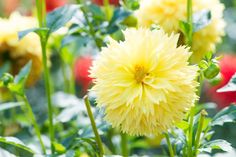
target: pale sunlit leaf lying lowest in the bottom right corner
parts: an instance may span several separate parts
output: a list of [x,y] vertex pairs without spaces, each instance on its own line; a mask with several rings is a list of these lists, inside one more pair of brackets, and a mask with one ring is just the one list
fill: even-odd
[[223,150],[223,151],[230,151],[232,150],[231,144],[225,140],[214,140],[209,141],[203,144],[202,148],[200,148],[200,152],[208,152],[211,153],[213,149]]

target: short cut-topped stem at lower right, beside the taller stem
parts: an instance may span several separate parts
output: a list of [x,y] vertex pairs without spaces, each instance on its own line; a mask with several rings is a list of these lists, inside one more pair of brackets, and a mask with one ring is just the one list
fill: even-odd
[[194,156],[196,157],[198,154],[198,147],[200,144],[200,138],[201,138],[201,133],[202,133],[202,128],[203,128],[203,124],[204,124],[204,118],[207,115],[207,112],[205,110],[201,111],[200,114],[200,119],[199,119],[199,123],[198,123],[198,128],[197,128],[197,135],[196,135],[196,139],[195,139],[195,152],[194,152]]

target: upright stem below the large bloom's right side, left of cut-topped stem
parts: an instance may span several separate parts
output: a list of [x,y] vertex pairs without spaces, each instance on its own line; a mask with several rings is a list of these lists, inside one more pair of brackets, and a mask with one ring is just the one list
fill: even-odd
[[189,130],[188,130],[188,157],[192,157],[192,146],[193,146],[193,119],[194,119],[194,107],[190,110],[189,115]]

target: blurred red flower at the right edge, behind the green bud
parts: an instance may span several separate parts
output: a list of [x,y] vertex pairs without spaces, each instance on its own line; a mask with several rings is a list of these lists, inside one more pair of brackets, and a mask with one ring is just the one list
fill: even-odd
[[219,108],[224,108],[236,103],[236,92],[217,93],[216,90],[225,86],[236,73],[236,55],[225,55],[220,61],[220,69],[222,80],[219,85],[210,88],[208,94]]

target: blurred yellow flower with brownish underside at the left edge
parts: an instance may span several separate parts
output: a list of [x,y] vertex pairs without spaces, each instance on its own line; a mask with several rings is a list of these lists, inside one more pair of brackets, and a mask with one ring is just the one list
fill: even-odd
[[0,19],[0,65],[11,63],[11,73],[19,70],[32,60],[32,70],[27,85],[33,85],[42,72],[42,55],[39,37],[30,33],[22,40],[17,33],[29,28],[37,27],[37,20],[13,13],[9,19]]

